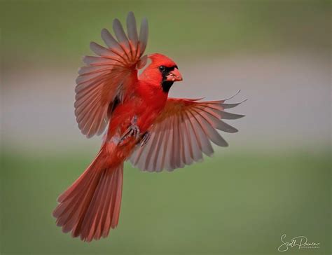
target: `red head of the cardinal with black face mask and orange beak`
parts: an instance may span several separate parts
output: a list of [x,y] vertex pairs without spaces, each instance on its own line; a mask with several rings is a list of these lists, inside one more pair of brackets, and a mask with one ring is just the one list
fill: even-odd
[[177,64],[165,55],[155,53],[148,55],[151,64],[143,71],[142,76],[161,85],[164,92],[168,92],[175,81],[182,81]]

